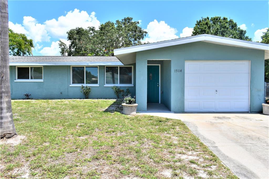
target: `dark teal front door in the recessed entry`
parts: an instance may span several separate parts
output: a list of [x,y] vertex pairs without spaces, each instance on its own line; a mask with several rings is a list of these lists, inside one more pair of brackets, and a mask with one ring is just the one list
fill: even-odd
[[148,65],[147,79],[148,79],[147,102],[159,103],[160,73],[158,65]]

